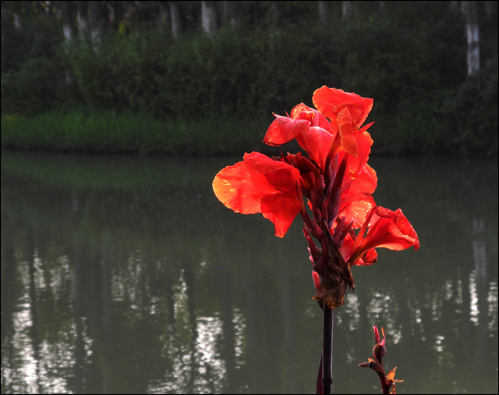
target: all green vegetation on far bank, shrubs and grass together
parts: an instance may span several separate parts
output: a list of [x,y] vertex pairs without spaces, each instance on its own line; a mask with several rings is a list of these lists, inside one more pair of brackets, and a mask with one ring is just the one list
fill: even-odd
[[70,39],[56,6],[16,3],[2,3],[3,147],[240,154],[272,112],[327,85],[374,98],[377,152],[497,155],[496,5],[478,7],[481,68],[467,76],[452,2],[351,2],[348,14],[350,2],[323,2],[327,18],[317,2],[239,2],[237,25],[217,2],[209,32],[199,3],[179,2],[182,34],[166,2],[107,2],[126,3],[121,19]]

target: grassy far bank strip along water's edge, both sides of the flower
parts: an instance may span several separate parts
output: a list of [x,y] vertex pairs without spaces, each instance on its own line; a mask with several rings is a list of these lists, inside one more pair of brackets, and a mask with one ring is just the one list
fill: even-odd
[[[278,155],[296,151],[291,143],[270,147],[262,140],[272,116],[159,120],[132,112],[48,111],[34,116],[2,115],[1,146],[11,151],[46,151],[140,155],[242,155],[260,151]],[[369,129],[372,152],[383,155],[497,156],[495,143],[480,136],[460,136],[435,116],[394,116],[375,121]]]

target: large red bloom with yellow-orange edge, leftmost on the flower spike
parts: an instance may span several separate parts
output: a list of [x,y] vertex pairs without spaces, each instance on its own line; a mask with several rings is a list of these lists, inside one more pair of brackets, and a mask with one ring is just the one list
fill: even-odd
[[261,212],[283,237],[302,208],[297,185],[300,171],[259,152],[246,153],[243,162],[227,166],[213,180],[219,201],[235,212]]

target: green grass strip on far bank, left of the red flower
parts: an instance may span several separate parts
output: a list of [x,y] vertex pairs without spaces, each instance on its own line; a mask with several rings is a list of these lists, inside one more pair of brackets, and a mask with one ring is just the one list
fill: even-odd
[[258,149],[271,120],[161,121],[112,111],[2,115],[2,148],[85,153],[242,154]]

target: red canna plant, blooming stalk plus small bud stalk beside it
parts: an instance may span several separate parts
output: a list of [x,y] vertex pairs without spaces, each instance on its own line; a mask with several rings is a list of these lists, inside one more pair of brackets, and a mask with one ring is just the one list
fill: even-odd
[[[372,145],[367,129],[372,124],[362,125],[373,100],[323,86],[314,92],[313,103],[316,110],[301,103],[291,115],[274,114],[264,137],[272,146],[295,139],[308,157],[300,152],[274,159],[246,153],[242,162],[215,176],[213,190],[235,212],[261,212],[273,222],[276,236],[283,237],[296,214],[301,214],[313,267],[313,299],[324,311],[317,391],[327,391],[331,386],[331,310],[344,304],[347,286],[355,286],[351,266],[376,262],[375,247],[417,249],[420,243],[400,209],[377,207],[371,196],[377,186],[376,172],[367,164]],[[355,235],[353,229],[358,228]],[[385,391],[397,381],[395,369],[387,379],[382,365],[385,340],[377,328],[374,331],[374,359],[361,366],[380,374]]]

